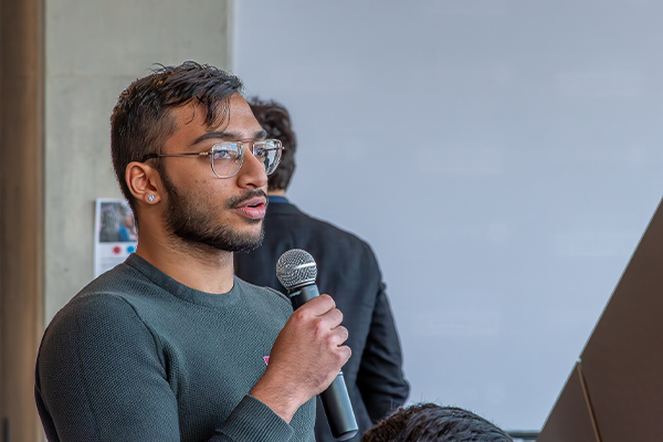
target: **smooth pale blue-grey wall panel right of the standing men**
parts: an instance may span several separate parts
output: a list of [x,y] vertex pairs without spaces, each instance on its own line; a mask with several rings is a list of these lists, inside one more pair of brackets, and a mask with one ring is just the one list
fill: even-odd
[[539,429],[663,189],[663,3],[243,0],[291,198],[375,248],[411,401]]

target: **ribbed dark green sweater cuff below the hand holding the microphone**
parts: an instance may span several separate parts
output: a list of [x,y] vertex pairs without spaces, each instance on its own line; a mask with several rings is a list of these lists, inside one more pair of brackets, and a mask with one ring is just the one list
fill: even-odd
[[246,394],[223,422],[221,432],[233,441],[287,442],[294,430],[270,407]]

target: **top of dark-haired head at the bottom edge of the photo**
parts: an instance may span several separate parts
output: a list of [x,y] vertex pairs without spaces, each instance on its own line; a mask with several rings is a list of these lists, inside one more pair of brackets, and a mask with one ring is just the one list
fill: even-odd
[[421,403],[398,409],[361,442],[513,442],[487,420],[461,408]]

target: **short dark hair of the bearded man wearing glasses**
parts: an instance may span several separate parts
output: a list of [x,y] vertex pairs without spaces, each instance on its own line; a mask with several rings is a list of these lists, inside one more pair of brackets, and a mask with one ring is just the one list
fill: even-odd
[[[228,72],[185,62],[178,66],[158,65],[150,75],[136,80],[123,91],[110,117],[110,154],[115,177],[136,223],[136,201],[125,180],[128,164],[161,152],[166,139],[177,130],[170,116],[172,108],[196,99],[196,104],[206,109],[204,123],[219,126],[228,120],[230,96],[241,93],[242,88],[242,82]],[[160,159],[155,161],[162,175]]]

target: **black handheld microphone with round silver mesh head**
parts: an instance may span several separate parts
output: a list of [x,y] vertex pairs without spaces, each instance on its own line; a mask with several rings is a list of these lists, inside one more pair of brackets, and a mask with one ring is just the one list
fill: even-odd
[[[294,309],[319,296],[317,285],[315,285],[316,276],[315,260],[302,249],[288,250],[276,262],[276,277],[287,288]],[[334,438],[347,441],[357,434],[359,427],[357,427],[343,370],[332,385],[320,393],[320,399]]]

